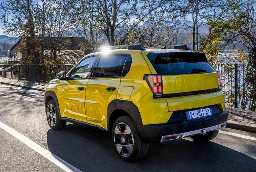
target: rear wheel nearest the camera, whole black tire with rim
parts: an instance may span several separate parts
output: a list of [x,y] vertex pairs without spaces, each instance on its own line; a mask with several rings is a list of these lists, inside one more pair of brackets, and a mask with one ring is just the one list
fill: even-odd
[[112,142],[118,156],[127,162],[145,158],[148,143],[144,143],[134,121],[129,116],[119,117],[112,128]]

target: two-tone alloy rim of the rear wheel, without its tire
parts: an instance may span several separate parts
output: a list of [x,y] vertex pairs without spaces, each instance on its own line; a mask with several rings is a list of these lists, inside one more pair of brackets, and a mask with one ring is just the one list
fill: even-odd
[[114,142],[117,151],[122,157],[129,157],[134,149],[134,137],[130,127],[120,122],[114,131]]

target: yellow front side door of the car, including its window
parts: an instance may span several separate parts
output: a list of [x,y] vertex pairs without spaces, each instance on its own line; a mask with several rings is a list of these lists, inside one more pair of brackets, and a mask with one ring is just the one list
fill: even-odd
[[97,58],[97,56],[90,56],[82,60],[68,73],[69,79],[59,86],[62,117],[87,121],[84,106],[85,89]]

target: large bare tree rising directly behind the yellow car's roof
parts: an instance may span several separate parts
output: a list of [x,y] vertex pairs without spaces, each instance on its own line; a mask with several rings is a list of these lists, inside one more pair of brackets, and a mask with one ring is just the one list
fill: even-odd
[[[147,15],[163,4],[163,0],[94,0],[90,12],[96,12],[97,25],[94,28],[103,31],[110,45],[120,32],[132,30],[146,20]],[[119,30],[119,32],[118,32]],[[119,41],[123,44],[128,34]]]

